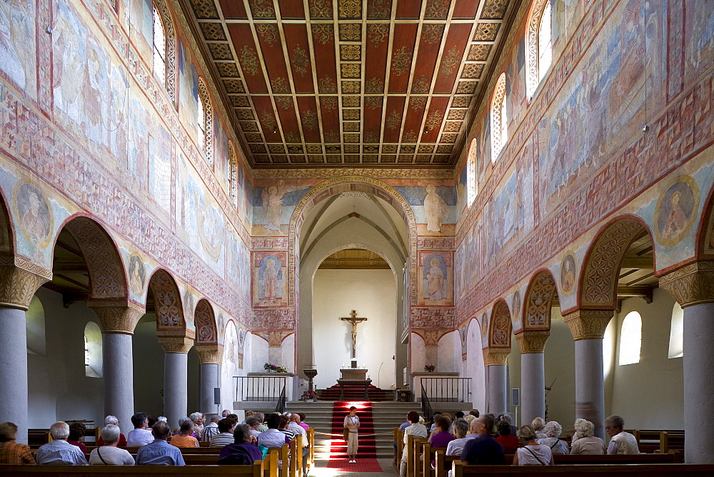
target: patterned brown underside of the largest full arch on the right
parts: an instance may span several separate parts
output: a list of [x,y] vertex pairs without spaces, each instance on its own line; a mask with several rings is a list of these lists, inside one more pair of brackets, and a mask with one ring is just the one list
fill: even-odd
[[[580,271],[578,308],[617,308],[620,267],[630,245],[645,234],[652,239],[652,233],[645,222],[632,215],[616,217],[600,229],[585,253]],[[656,258],[653,256],[655,265]]]

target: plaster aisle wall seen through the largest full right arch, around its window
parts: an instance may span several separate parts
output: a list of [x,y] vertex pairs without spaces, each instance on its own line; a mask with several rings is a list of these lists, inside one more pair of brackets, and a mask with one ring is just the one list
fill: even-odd
[[[668,358],[674,299],[655,288],[652,303],[641,298],[623,301],[617,323],[618,346],[614,362],[613,414],[625,419],[626,428],[681,429],[684,426],[683,359]],[[619,366],[620,331],[625,316],[642,316],[640,362]],[[685,350],[686,352],[686,350]],[[710,410],[702,409],[702,412]]]

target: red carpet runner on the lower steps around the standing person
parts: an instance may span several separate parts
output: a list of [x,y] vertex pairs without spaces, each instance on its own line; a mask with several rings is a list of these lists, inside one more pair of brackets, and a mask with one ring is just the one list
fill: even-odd
[[[357,463],[349,463],[347,459],[347,443],[343,441],[342,432],[345,416],[349,413],[350,406],[357,408],[359,417],[359,447],[357,449]],[[381,472],[382,468],[377,462],[377,446],[373,434],[372,403],[363,401],[335,401],[332,408],[332,440],[330,446],[330,461],[328,468],[336,468],[341,472]]]

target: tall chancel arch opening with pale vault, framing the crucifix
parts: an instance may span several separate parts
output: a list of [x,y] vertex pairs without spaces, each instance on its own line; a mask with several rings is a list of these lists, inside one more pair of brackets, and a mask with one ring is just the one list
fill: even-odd
[[[383,315],[386,310],[391,310],[385,315],[388,315],[388,318],[379,318],[388,319],[382,324],[385,333],[373,337],[386,340],[381,345],[385,350],[383,353],[385,356],[377,363],[369,363],[368,372],[375,385],[379,383],[384,387],[386,383],[388,387],[393,383],[398,384],[402,378],[401,370],[407,365],[409,300],[405,289],[410,283],[409,244],[411,237],[415,236],[412,235],[409,224],[411,223],[412,228],[416,228],[416,222],[413,221],[411,209],[408,204],[403,203],[401,196],[386,185],[382,187],[378,181],[367,179],[328,182],[331,184],[321,187],[323,190],[316,194],[316,198],[313,199],[312,196],[303,198],[302,213],[296,211],[296,214],[293,214],[293,217],[299,217],[296,221],[301,225],[300,229],[296,230],[296,240],[299,243],[296,255],[299,256],[297,265],[300,294],[298,356],[301,360],[298,362],[298,371],[316,364],[315,356],[322,352],[316,348],[317,335],[322,333],[322,328],[317,327],[316,320],[323,318],[314,313],[330,308],[324,299],[327,289],[325,287],[329,288],[338,282],[346,285],[349,282],[351,286],[361,286],[359,293],[376,293],[382,300],[386,300],[381,307],[382,310],[373,311],[375,314],[373,320],[378,318],[377,315]],[[408,219],[410,216],[411,220]],[[416,233],[416,230],[413,233]],[[370,254],[371,258],[368,257]],[[345,260],[347,256],[351,259]],[[353,265],[344,266],[340,261]],[[380,261],[383,264],[375,266],[375,263]],[[375,283],[374,280],[363,278],[369,274],[375,276],[374,280],[383,281],[383,286],[368,291],[367,284]],[[334,276],[335,279],[330,280],[326,278],[327,276]],[[345,278],[348,276],[362,278],[349,280]],[[339,288],[339,291],[335,288],[336,293],[345,293],[345,290],[344,287]],[[383,296],[386,290],[391,290],[389,292],[391,298]],[[342,302],[345,303],[345,309],[338,312],[338,309],[334,308],[329,311],[334,315],[329,319],[335,321],[335,323],[330,322],[330,326],[340,333],[335,337],[340,341],[343,336],[347,339],[349,333],[347,333],[348,327],[341,323],[339,318],[348,316],[353,308],[357,308],[358,314],[363,313],[359,306],[347,304],[349,295],[349,293],[343,294]],[[316,299],[318,302],[315,301]],[[363,302],[366,301],[368,297],[364,297]],[[362,308],[364,310],[366,306]],[[361,357],[366,356],[364,353],[366,343],[363,340],[370,336],[369,333],[372,332],[370,330],[373,330],[375,324],[376,321],[368,320],[357,328],[357,360],[360,365],[363,364]],[[342,344],[340,346],[345,349],[341,348],[340,352],[347,353],[348,348],[351,348],[351,342],[346,341]],[[387,348],[391,351],[386,351]],[[376,356],[370,358],[376,359]],[[342,364],[350,364],[348,354]],[[321,376],[323,378],[331,376],[331,382],[326,383],[327,386],[331,386],[335,383],[335,378],[339,377],[338,365],[332,366],[333,369],[329,374],[326,369],[318,370],[317,379],[321,379]]]

